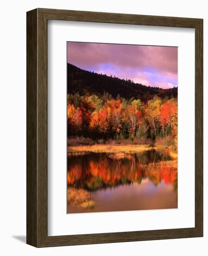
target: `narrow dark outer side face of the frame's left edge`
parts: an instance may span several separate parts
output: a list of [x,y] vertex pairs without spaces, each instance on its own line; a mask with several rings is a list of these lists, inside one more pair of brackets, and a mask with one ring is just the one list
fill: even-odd
[[37,10],[27,13],[27,243],[37,246]]

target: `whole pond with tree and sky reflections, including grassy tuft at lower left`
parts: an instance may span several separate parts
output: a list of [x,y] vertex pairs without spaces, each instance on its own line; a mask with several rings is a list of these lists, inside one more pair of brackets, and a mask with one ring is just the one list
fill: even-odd
[[71,155],[67,182],[67,213],[177,208],[177,163],[156,150]]

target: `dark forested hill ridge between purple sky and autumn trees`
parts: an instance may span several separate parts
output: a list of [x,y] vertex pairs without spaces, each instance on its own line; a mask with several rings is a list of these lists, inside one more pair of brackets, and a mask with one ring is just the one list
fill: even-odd
[[118,94],[121,97],[130,99],[139,98],[142,101],[153,98],[155,95],[161,98],[177,97],[177,88],[161,89],[149,87],[131,80],[124,80],[117,77],[97,74],[67,64],[67,93],[80,95],[96,94],[103,95],[104,92],[112,94],[116,98]]

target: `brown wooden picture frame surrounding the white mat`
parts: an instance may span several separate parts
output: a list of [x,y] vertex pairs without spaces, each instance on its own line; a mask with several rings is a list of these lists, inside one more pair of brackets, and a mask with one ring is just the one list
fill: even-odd
[[[47,235],[47,20],[195,28],[195,228]],[[35,247],[203,236],[203,20],[38,8],[27,12],[27,243]]]

